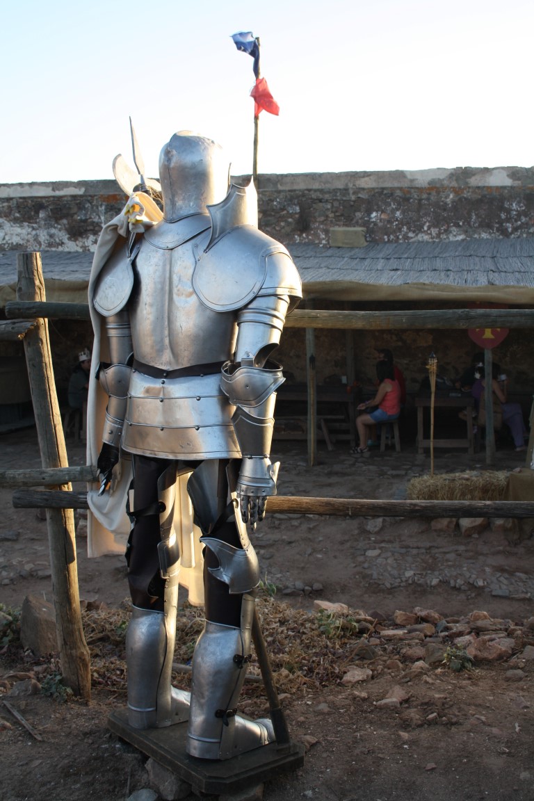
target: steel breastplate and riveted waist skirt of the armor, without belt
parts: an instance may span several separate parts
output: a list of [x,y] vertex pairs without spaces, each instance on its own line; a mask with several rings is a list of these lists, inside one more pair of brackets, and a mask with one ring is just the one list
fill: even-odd
[[[201,235],[205,236],[205,235]],[[199,239],[199,238],[197,238]],[[207,308],[192,288],[192,241],[174,250],[145,241],[128,304],[135,360],[162,371],[223,362],[235,349],[235,312]],[[239,457],[220,372],[130,379],[122,447],[160,458]]]

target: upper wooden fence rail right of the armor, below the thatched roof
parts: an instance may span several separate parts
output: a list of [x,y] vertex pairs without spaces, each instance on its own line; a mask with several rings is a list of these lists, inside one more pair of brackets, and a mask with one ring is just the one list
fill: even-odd
[[355,328],[364,331],[417,328],[534,328],[534,309],[453,308],[407,312],[347,312],[296,308],[286,328]]

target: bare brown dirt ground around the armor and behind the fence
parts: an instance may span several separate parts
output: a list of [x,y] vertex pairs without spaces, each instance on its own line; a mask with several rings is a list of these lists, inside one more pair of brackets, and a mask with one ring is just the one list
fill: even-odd
[[[40,466],[33,429],[2,435],[0,446],[3,468]],[[68,449],[71,464],[85,463],[82,445],[69,441]],[[428,471],[428,458],[409,448],[354,460],[346,443],[330,453],[321,445],[320,463],[312,469],[303,445],[281,442],[276,450],[282,461],[279,493],[284,495],[402,497],[408,479]],[[496,466],[520,466],[522,456],[500,453]],[[480,457],[463,453],[436,457],[438,471],[476,465],[484,466]],[[13,509],[11,495],[11,488],[0,488],[0,603],[17,608],[27,594],[50,600],[51,587],[46,521],[33,509]],[[80,520],[80,595],[86,602],[118,606],[127,595],[124,561],[87,560],[83,517],[77,514]],[[518,626],[533,614],[528,592],[503,598],[488,591],[488,585],[470,584],[462,590],[451,582],[429,586],[424,580],[439,574],[445,564],[448,574],[460,574],[469,562],[473,571],[485,570],[490,577],[498,572],[513,584],[516,574],[532,574],[533,541],[528,537],[517,540],[488,529],[465,538],[457,530],[436,533],[429,521],[421,520],[384,518],[378,525],[354,518],[276,515],[259,527],[255,545],[265,582],[276,585],[278,598],[304,610],[311,611],[322,598],[386,619],[395,610],[410,612],[416,606],[448,619],[484,610]],[[381,566],[376,559],[384,556]],[[396,587],[384,583],[383,571],[391,568],[391,560],[400,577]],[[422,577],[419,583],[409,582],[408,568]],[[521,581],[528,585],[527,578]],[[295,583],[317,589],[304,594]],[[0,699],[7,699],[42,736],[34,739],[0,706],[2,801],[118,801],[147,787],[143,755],[106,727],[110,708],[122,705],[123,694],[110,693],[96,682],[90,706],[59,704],[42,694],[10,695],[18,681],[38,680],[39,671],[30,655],[14,663],[9,646],[0,653],[0,692],[5,693]],[[340,673],[331,685],[284,697],[291,737],[305,742],[308,751],[303,769],[267,782],[267,801],[534,798],[534,663],[517,658],[480,663],[475,671],[458,674],[433,666],[414,675],[403,653],[385,649],[366,663],[372,678],[365,684],[345,686]],[[510,678],[509,670],[518,665],[523,675]],[[377,706],[395,686],[408,694],[401,706]]]

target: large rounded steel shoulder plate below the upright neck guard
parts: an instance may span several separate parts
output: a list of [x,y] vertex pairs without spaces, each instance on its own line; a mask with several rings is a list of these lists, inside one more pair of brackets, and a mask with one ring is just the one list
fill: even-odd
[[197,297],[215,312],[242,308],[263,287],[267,256],[274,253],[283,253],[291,261],[282,244],[251,225],[227,231],[207,252],[200,252],[195,245],[193,288]]

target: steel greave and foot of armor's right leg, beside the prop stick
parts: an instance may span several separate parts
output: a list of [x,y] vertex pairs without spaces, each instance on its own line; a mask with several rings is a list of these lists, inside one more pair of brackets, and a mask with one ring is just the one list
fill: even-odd
[[187,753],[230,759],[271,743],[271,721],[235,714],[250,660],[254,598],[243,595],[241,628],[206,622],[195,647]]

